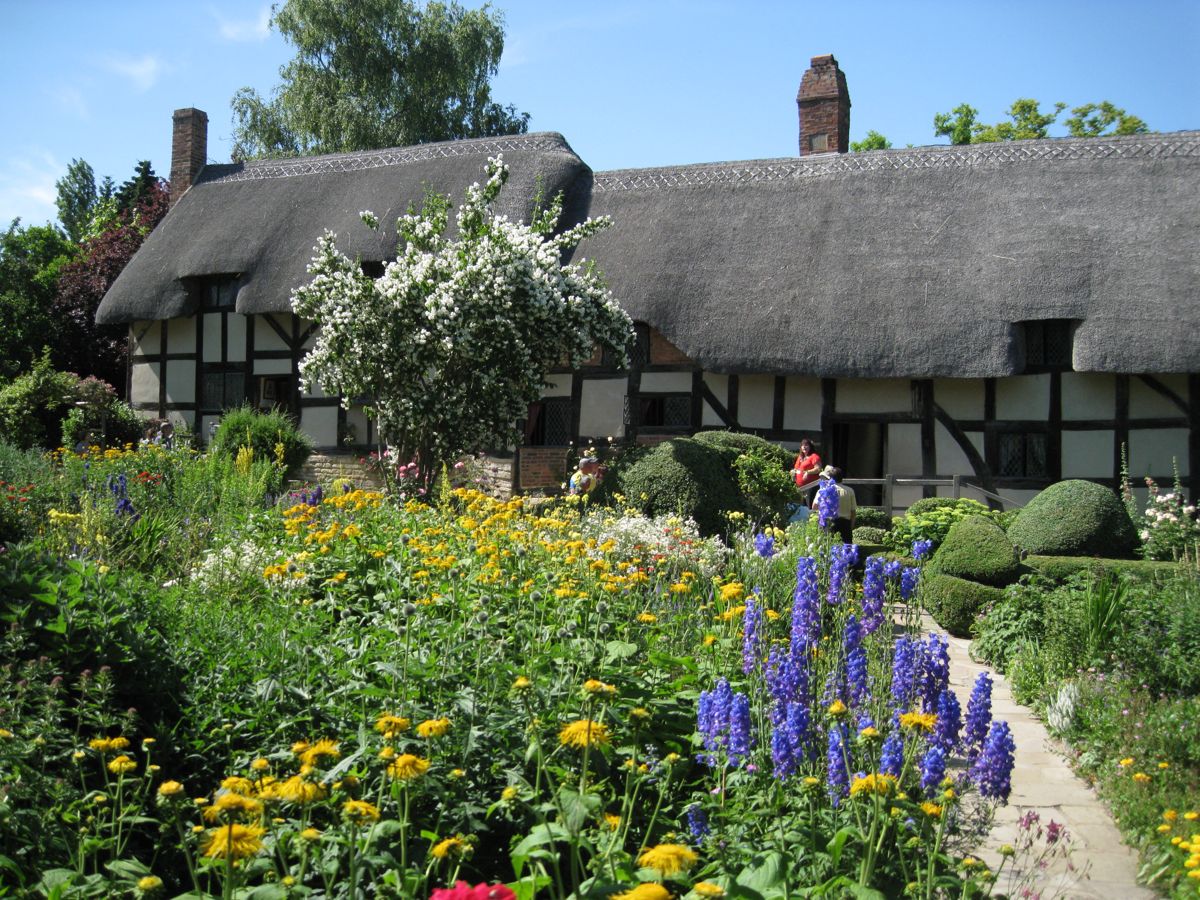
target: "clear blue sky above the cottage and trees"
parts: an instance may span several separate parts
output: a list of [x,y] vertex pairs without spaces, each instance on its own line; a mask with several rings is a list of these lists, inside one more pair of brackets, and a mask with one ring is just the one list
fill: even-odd
[[[997,121],[1022,96],[1111,100],[1156,131],[1200,128],[1195,0],[497,6],[494,98],[596,170],[796,155],[796,91],[823,53],[846,72],[854,139],[944,143],[935,113],[967,101]],[[292,55],[268,14],[229,0],[0,0],[0,227],[54,218],[72,157],[118,181],[140,158],[167,175],[180,107],[209,113],[210,158],[227,161],[234,91],[265,94]]]

